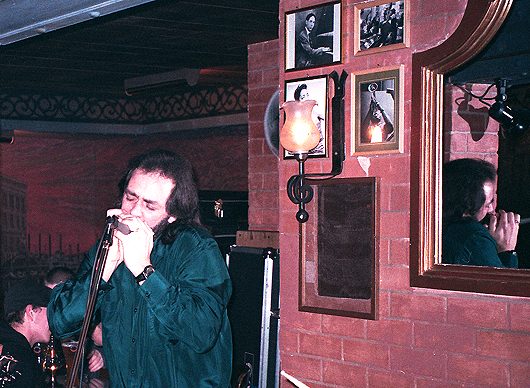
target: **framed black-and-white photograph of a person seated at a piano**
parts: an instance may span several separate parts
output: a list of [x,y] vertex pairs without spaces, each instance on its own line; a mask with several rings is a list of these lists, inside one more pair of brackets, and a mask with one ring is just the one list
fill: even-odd
[[285,14],[285,68],[299,70],[341,61],[341,3]]

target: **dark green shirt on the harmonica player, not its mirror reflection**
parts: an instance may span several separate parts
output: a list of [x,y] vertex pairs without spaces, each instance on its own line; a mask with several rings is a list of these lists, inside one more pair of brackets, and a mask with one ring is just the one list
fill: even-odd
[[[95,253],[76,279],[53,290],[48,320],[60,338],[81,328]],[[141,286],[122,263],[100,287],[96,309],[111,387],[229,387],[232,286],[217,243],[187,226],[172,245],[155,241],[151,262],[156,271]]]

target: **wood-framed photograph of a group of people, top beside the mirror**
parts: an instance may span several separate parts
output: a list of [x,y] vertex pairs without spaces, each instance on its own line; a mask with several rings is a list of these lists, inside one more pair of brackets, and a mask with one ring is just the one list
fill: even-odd
[[409,46],[408,0],[376,0],[355,6],[354,54]]

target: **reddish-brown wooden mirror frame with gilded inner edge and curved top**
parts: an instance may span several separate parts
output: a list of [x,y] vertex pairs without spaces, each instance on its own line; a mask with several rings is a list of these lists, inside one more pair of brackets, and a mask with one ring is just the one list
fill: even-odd
[[530,270],[441,264],[444,74],[494,37],[513,0],[468,0],[441,45],[412,56],[410,285],[530,296]]

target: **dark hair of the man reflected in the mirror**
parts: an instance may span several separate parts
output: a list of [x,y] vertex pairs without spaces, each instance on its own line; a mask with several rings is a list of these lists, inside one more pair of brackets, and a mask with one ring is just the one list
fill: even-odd
[[443,165],[443,228],[473,217],[486,202],[484,184],[495,182],[495,166],[480,159],[455,159]]

